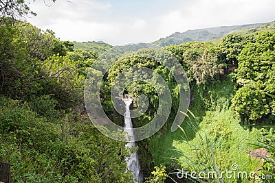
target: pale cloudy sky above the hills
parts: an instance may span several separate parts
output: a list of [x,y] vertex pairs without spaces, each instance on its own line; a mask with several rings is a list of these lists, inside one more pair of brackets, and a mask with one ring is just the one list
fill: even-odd
[[61,40],[153,42],[188,29],[275,21],[274,0],[31,1],[27,21]]

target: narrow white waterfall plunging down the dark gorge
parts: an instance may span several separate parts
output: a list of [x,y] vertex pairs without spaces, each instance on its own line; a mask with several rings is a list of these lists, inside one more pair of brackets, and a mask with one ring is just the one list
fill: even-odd
[[[123,99],[125,103],[126,112],[124,113],[124,132],[127,132],[126,138],[131,138],[131,142],[126,144],[126,148],[137,147],[135,144],[135,136],[133,134],[133,124],[130,117],[130,105],[133,102],[133,99]],[[140,162],[138,160],[137,151],[133,152],[129,159],[126,160],[128,169],[132,171],[133,178],[138,182],[143,181],[143,175],[140,170]]]

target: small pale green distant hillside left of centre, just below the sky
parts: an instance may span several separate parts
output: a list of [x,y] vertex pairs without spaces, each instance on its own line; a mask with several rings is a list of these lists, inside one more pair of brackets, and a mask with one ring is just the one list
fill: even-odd
[[74,49],[85,49],[87,51],[94,51],[98,53],[98,55],[104,53],[111,49],[111,45],[105,42],[95,42],[95,41],[88,41],[88,42],[76,42],[74,41]]

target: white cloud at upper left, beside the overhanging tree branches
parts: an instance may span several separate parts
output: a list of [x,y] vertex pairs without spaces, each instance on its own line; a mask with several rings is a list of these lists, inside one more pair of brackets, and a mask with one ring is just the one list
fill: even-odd
[[46,2],[45,5],[43,1],[34,1],[30,8],[38,15],[31,17],[28,21],[43,27],[56,24],[60,20],[71,21],[71,23],[74,21],[97,21],[98,16],[102,18],[102,14],[110,12],[111,3],[99,3],[91,0],[58,0],[55,3]]

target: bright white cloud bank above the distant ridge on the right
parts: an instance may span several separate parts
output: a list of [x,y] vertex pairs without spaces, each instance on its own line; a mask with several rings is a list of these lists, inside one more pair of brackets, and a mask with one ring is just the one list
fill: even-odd
[[272,0],[194,0],[177,10],[159,16],[159,27],[166,35],[187,29],[274,21]]

